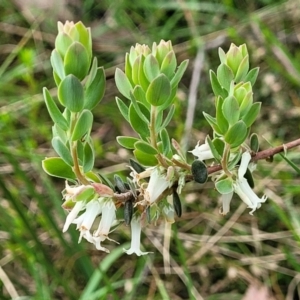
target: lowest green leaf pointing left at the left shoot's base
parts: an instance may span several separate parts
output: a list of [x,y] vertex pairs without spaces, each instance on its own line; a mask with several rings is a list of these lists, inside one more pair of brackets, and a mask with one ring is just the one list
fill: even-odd
[[43,170],[54,177],[65,178],[71,181],[76,179],[72,168],[60,157],[50,157],[42,161]]

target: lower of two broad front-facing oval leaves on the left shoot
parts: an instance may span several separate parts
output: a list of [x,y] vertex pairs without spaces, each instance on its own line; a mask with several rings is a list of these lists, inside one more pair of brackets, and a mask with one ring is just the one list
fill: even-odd
[[79,112],[84,106],[84,93],[80,81],[74,75],[68,75],[58,87],[58,99],[72,112]]

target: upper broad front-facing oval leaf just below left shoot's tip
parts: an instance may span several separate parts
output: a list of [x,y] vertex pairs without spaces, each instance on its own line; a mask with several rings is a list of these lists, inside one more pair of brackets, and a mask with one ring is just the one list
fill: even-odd
[[68,48],[64,58],[66,75],[73,74],[79,80],[82,80],[88,74],[90,63],[85,47],[78,42],[74,42]]

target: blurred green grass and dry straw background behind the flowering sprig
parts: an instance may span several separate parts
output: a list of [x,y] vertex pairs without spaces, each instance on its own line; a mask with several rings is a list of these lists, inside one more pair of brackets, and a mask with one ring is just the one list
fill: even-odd
[[[64,182],[41,169],[55,155],[41,91],[55,86],[49,58],[58,20],[92,28],[107,76],[94,110],[96,167],[112,178],[128,175],[131,157],[115,140],[131,131],[114,100],[114,70],[135,43],[170,39],[178,61],[190,60],[169,127],[189,150],[210,133],[202,115],[213,113],[208,71],[230,43],[246,43],[251,66],[260,67],[254,98],[263,105],[253,131],[261,149],[299,138],[299,16],[299,0],[1,0],[0,299],[300,299],[299,174],[280,156],[258,164],[256,191],[269,199],[254,216],[236,197],[224,217],[209,182],[189,184],[183,216],[144,230],[153,252],[146,257],[122,254],[125,226],[112,234],[121,245],[109,255],[78,244],[75,226],[62,234]],[[195,113],[192,129],[187,111]],[[287,155],[295,165],[298,153]]]

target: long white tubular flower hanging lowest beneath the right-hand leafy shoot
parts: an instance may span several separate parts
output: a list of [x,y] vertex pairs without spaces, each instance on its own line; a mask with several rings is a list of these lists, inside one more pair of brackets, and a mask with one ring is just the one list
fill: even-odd
[[260,208],[261,203],[267,200],[267,196],[264,195],[262,198],[259,198],[249,186],[247,179],[244,177],[250,160],[250,153],[244,152],[242,155],[241,165],[238,170],[238,179],[234,183],[234,191],[248,205],[248,207],[252,209],[250,211],[250,215],[253,215],[253,212]]

